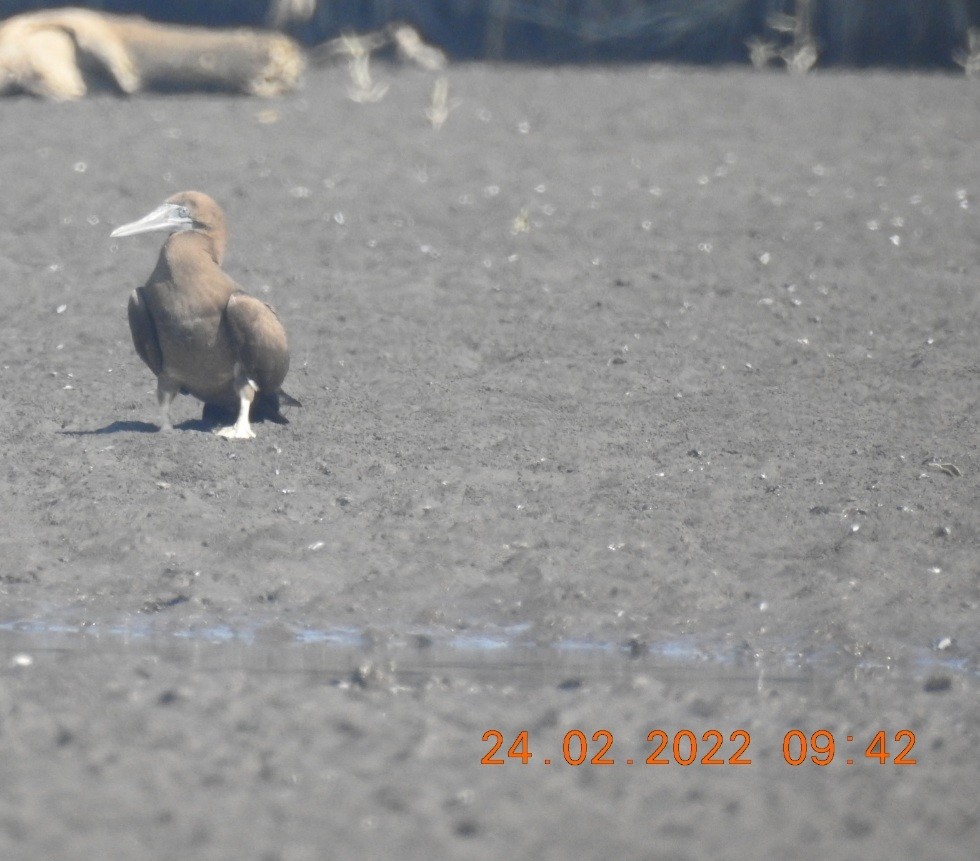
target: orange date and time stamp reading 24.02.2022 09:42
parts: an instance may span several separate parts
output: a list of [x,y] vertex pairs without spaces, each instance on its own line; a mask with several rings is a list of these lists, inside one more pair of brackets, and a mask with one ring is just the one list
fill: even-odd
[[[535,758],[531,750],[531,737],[527,730],[516,733],[511,740],[500,730],[488,729],[483,741],[489,745],[480,759],[480,765],[529,765]],[[752,765],[749,749],[752,737],[748,730],[736,729],[727,736],[721,730],[708,729],[697,733],[690,729],[667,732],[653,729],[647,733],[647,747],[638,753],[619,758],[614,750],[616,739],[607,729],[597,729],[591,734],[580,729],[570,729],[561,739],[559,754],[557,739],[554,753],[540,757],[542,765],[564,762],[566,765]],[[509,742],[509,744],[508,744]],[[894,746],[893,746],[894,742]],[[915,733],[899,730],[891,736],[878,730],[870,737],[855,741],[853,735],[844,736],[840,744],[830,730],[818,729],[807,734],[791,729],[783,736],[782,755],[787,765],[800,766],[808,763],[826,766],[838,754],[843,755],[845,765],[859,761],[876,762],[878,765],[916,765],[912,756]],[[855,759],[855,756],[860,757]]]

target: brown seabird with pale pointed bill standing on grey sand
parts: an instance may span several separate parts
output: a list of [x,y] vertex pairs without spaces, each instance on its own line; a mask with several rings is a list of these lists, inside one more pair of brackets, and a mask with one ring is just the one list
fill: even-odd
[[276,312],[221,268],[228,243],[225,215],[199,191],[168,197],[111,237],[170,234],[146,284],[129,297],[129,329],[139,357],[157,378],[160,430],[173,428],[178,394],[204,402],[204,418],[228,421],[215,433],[254,439],[250,418],[288,420],[281,404],[301,406],[282,390],[289,370],[286,331]]

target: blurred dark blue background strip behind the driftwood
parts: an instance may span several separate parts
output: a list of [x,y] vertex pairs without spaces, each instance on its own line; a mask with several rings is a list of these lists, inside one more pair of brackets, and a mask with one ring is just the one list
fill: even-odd
[[[64,6],[0,0],[0,18]],[[73,6],[170,23],[272,27],[315,45],[412,25],[453,59],[767,64],[812,46],[818,65],[950,68],[980,0],[98,0]],[[754,50],[750,51],[747,45]],[[785,56],[784,56],[785,59]]]

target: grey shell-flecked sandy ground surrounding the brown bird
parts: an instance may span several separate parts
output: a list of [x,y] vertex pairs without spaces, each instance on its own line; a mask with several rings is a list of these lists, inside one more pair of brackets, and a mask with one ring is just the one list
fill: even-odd
[[[976,87],[374,71],[0,104],[0,854],[972,858]],[[185,188],[253,443],[130,343]]]

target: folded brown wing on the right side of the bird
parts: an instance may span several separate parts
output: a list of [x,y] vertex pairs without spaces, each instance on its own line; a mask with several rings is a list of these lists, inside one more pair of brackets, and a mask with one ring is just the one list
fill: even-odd
[[232,293],[225,307],[235,355],[261,391],[277,392],[289,370],[286,330],[265,302],[247,293]]

